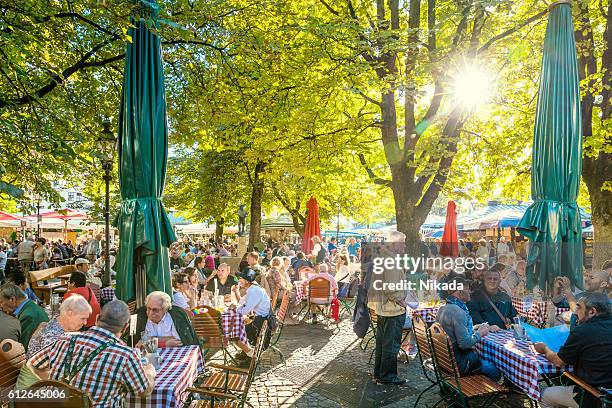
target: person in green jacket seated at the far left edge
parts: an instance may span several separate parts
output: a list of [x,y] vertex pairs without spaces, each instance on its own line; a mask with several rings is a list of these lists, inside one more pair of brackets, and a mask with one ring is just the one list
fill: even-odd
[[36,303],[26,298],[21,288],[13,283],[0,286],[0,309],[12,314],[21,325],[19,342],[28,351],[28,344],[32,333],[42,322],[48,322],[49,317]]

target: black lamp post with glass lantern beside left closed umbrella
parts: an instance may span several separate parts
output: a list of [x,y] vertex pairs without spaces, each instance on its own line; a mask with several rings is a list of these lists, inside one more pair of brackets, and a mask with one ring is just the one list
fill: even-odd
[[96,140],[96,150],[94,157],[97,157],[102,164],[104,170],[104,274],[102,276],[102,286],[109,286],[111,283],[110,273],[110,180],[111,171],[113,169],[113,161],[115,160],[115,145],[116,139],[113,132],[110,130],[110,120],[102,122],[104,127],[100,137]]

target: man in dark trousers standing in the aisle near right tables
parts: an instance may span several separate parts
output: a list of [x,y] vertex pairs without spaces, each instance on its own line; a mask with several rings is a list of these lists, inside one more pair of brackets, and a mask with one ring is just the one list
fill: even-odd
[[[393,232],[389,243],[383,244],[378,258],[395,258],[403,254],[406,236]],[[403,385],[406,380],[397,375],[397,353],[402,342],[402,328],[406,320],[406,291],[391,290],[381,284],[398,283],[406,279],[403,269],[383,267],[382,271],[373,270],[371,286],[368,290],[368,307],[377,316],[376,349],[374,351],[374,380],[382,384]]]

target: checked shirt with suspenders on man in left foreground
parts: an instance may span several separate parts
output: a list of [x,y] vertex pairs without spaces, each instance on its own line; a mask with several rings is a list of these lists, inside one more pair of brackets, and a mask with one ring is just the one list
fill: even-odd
[[[41,350],[32,357],[37,369],[50,369],[49,379],[63,381],[70,334],[62,336],[57,343]],[[80,370],[70,384],[89,393],[97,408],[123,407],[124,394],[139,394],[146,390],[148,381],[136,351],[128,347],[110,331],[92,327],[88,331],[73,334],[77,337],[71,367],[77,367],[95,349],[114,341],[103,350],[89,366]]]

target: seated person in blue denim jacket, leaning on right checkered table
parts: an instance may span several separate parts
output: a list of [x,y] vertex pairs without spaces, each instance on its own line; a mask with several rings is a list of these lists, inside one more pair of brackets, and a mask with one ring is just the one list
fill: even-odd
[[489,333],[489,327],[481,324],[474,331],[472,316],[466,305],[466,302],[470,300],[469,282],[457,276],[449,283],[454,283],[457,290],[446,293],[446,305],[438,311],[436,321],[442,325],[450,337],[459,373],[461,375],[480,373],[493,381],[499,381],[501,373],[497,367],[488,361],[481,360],[474,351],[476,343]]

